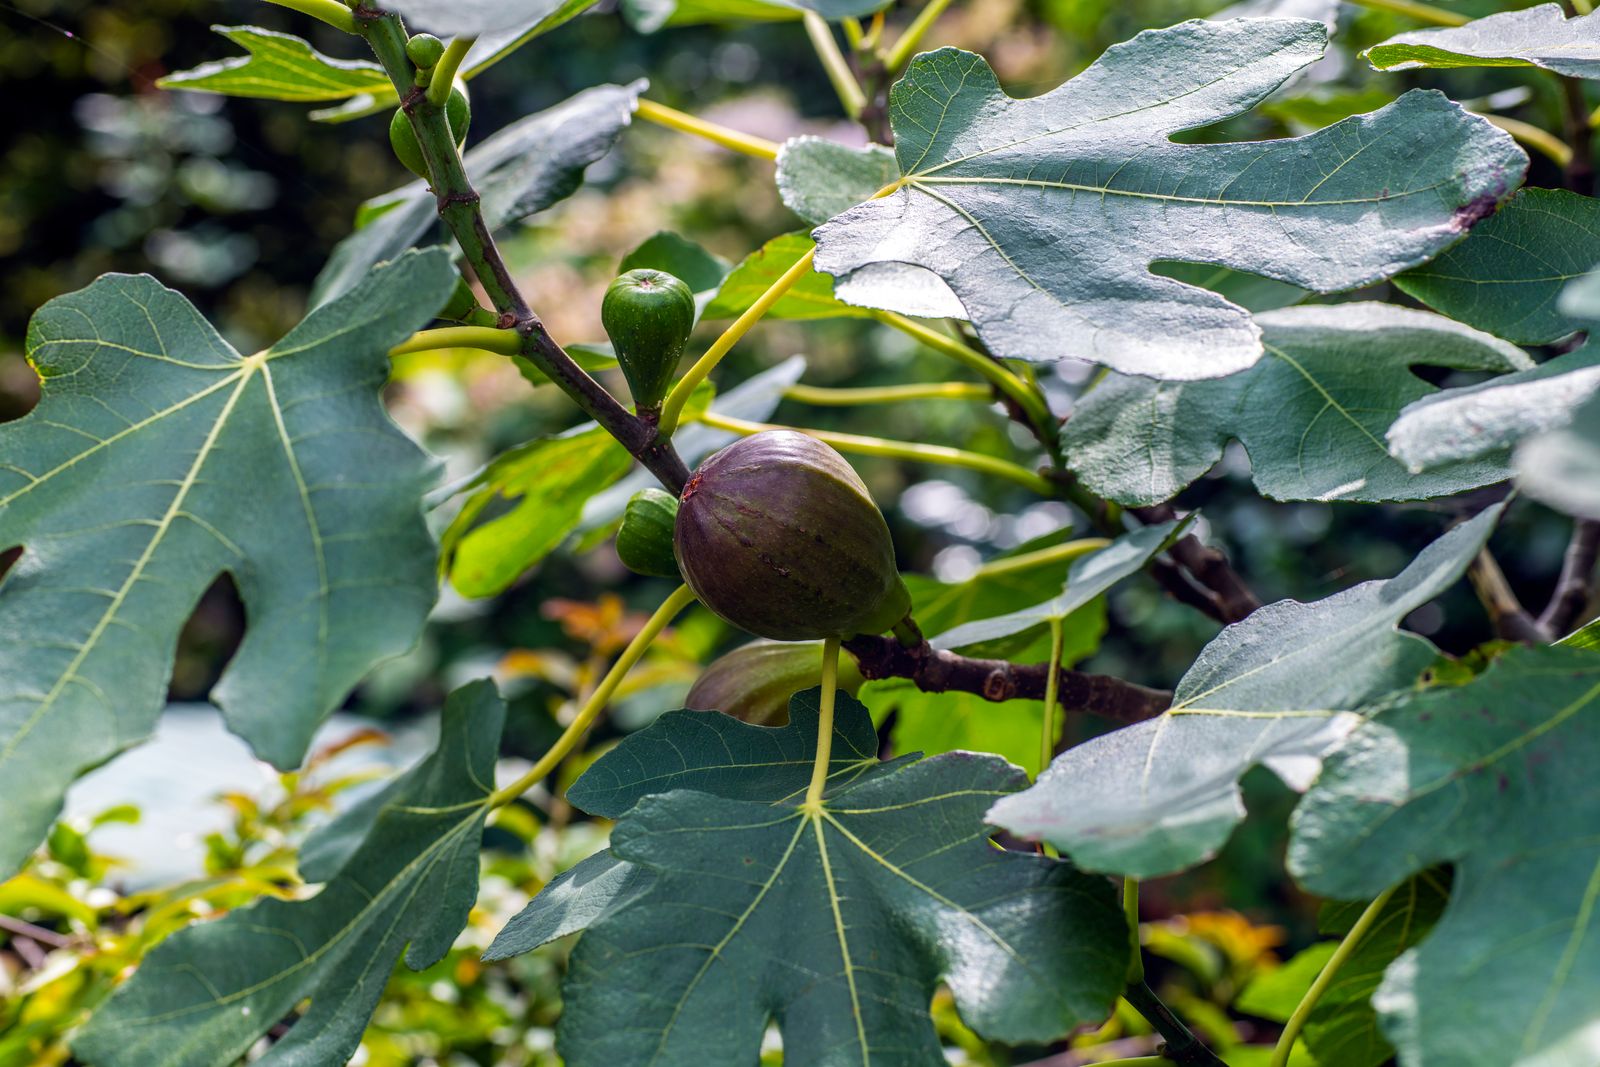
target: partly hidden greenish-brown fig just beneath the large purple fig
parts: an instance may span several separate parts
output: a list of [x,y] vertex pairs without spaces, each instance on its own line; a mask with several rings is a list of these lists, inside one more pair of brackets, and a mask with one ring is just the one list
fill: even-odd
[[[822,641],[762,638],[710,661],[690,686],[683,707],[722,712],[755,726],[782,726],[789,721],[789,697],[821,677]],[[861,681],[856,661],[840,656],[838,688],[854,696]]]

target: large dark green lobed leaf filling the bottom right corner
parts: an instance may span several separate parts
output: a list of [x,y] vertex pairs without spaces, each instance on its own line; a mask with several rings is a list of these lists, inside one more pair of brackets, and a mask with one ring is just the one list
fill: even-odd
[[1374,998],[1402,1062],[1594,1061],[1597,701],[1592,651],[1514,648],[1466,686],[1378,710],[1301,801],[1290,869],[1315,893],[1454,865],[1438,925]]

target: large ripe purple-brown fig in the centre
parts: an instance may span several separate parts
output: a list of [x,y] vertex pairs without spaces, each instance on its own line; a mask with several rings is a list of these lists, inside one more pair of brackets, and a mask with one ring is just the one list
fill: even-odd
[[702,462],[678,499],[674,549],[701,603],[757,637],[882,633],[910,611],[867,486],[794,430],[754,434]]

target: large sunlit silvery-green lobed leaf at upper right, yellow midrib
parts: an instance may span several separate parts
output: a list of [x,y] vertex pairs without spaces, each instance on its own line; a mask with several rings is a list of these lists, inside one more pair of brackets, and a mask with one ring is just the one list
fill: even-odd
[[1174,144],[1315,62],[1301,19],[1184,22],[1117,45],[1061,88],[1006,96],[981,56],[912,61],[891,93],[904,186],[814,232],[840,299],[912,314],[933,270],[1002,357],[1219,378],[1261,355],[1250,315],[1160,278],[1206,262],[1334,291],[1454,243],[1522,181],[1507,134],[1438,93],[1304,138]]

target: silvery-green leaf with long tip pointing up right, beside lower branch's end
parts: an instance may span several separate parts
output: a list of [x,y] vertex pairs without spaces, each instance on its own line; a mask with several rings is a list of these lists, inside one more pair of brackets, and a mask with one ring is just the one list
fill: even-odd
[[1245,814],[1245,771],[1266,765],[1304,789],[1360,721],[1350,710],[1411,686],[1434,662],[1437,649],[1397,625],[1461,577],[1501,507],[1392,579],[1258,608],[1205,646],[1170,712],[1067,750],[989,819],[1086,870],[1150,878],[1210,859]]

